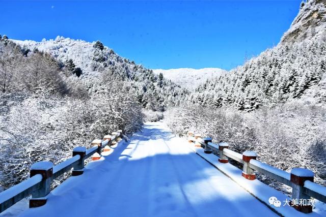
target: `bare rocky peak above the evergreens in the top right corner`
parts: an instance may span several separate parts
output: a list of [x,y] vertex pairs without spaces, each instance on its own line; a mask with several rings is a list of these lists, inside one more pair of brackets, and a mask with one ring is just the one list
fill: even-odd
[[283,35],[281,43],[300,42],[307,38],[325,36],[326,0],[311,0],[302,3],[298,15]]

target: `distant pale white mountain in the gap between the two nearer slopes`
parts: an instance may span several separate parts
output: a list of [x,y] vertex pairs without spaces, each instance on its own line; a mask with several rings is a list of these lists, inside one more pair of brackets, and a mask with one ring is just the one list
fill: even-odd
[[226,72],[219,68],[204,68],[204,69],[154,69],[155,74],[162,73],[163,76],[171,81],[188,89],[195,89],[198,85],[204,83],[207,79],[212,79]]

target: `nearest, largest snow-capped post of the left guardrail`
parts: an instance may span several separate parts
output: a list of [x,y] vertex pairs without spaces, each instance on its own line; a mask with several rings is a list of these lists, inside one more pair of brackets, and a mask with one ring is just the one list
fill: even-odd
[[39,207],[46,204],[46,195],[50,193],[51,176],[53,174],[53,163],[49,161],[40,161],[31,166],[30,177],[41,174],[41,188],[32,192],[30,199],[30,208]]

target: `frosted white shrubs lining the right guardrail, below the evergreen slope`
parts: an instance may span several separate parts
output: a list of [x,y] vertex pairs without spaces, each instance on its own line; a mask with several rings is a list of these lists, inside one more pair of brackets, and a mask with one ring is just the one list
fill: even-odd
[[178,135],[188,131],[226,141],[240,153],[254,150],[258,160],[288,172],[308,168],[326,184],[326,109],[292,102],[246,113],[185,105],[168,110],[166,121]]

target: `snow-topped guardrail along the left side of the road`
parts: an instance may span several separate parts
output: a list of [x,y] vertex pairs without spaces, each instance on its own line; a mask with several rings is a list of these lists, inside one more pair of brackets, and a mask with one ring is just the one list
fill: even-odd
[[14,185],[0,193],[0,212],[8,209],[21,199],[32,195],[30,207],[42,206],[46,203],[46,196],[50,192],[51,181],[70,171],[72,176],[82,175],[84,161],[92,156],[92,161],[100,159],[101,150],[108,151],[113,142],[121,137],[122,131],[104,136],[103,140],[96,139],[91,143],[91,148],[75,147],[72,158],[53,167],[51,162],[41,161],[32,165],[30,178]]

